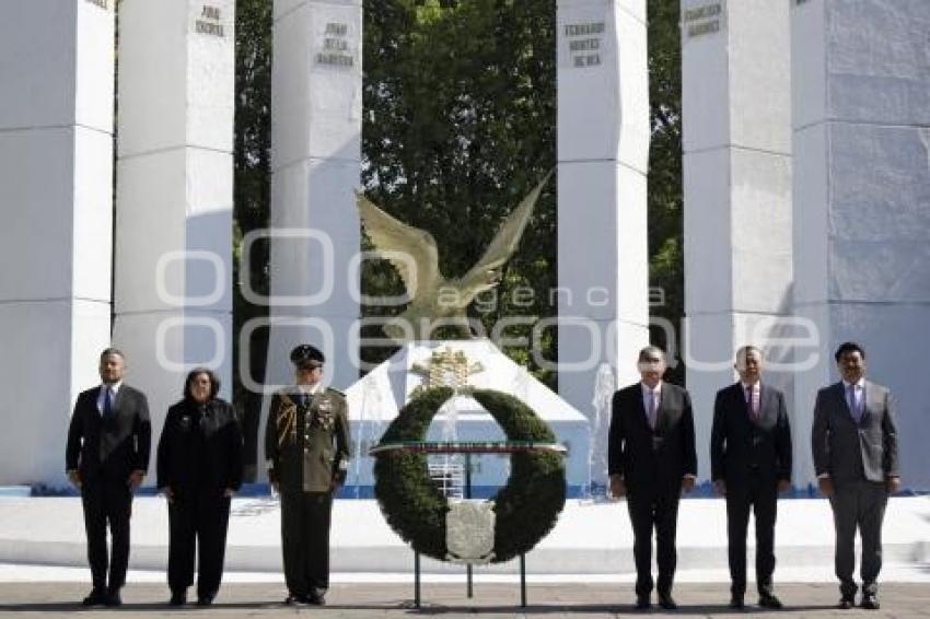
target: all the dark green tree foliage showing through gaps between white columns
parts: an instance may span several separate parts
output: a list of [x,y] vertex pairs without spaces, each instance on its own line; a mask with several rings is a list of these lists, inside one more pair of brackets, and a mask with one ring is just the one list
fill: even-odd
[[[270,186],[270,0],[236,2],[235,224],[243,234],[268,222]],[[365,0],[363,34],[362,184],[369,196],[403,221],[428,230],[441,246],[446,276],[463,275],[480,257],[498,226],[556,164],[555,0]],[[678,1],[649,0],[649,74],[652,144],[649,160],[650,283],[663,291],[654,316],[678,325],[683,314],[682,126]],[[503,317],[544,318],[558,308],[556,184],[536,205],[518,253],[493,293],[469,315],[488,332]],[[236,272],[268,290],[267,247],[254,248],[252,272]],[[400,294],[385,262],[365,262],[365,294]],[[364,316],[400,308],[364,307]],[[266,307],[246,303],[236,285],[234,332]],[[530,325],[503,336],[526,337]],[[368,332],[364,335],[377,336]],[[259,331],[247,363],[264,376],[267,334]],[[654,338],[662,341],[662,334]],[[558,357],[555,334],[542,354]],[[390,349],[369,349],[376,362]],[[528,347],[505,352],[556,386]],[[236,382],[239,370],[235,372]],[[673,372],[681,382],[683,366]],[[246,431],[257,430],[258,398],[237,384]]]

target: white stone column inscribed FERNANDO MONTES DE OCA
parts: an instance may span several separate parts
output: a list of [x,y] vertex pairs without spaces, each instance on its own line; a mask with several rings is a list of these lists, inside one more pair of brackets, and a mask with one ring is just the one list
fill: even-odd
[[593,423],[649,340],[646,1],[559,0],[557,28],[559,395]]

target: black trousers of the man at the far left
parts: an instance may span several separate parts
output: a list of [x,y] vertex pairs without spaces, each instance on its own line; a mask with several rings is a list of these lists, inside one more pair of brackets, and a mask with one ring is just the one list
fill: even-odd
[[[118,592],[126,584],[129,567],[129,516],[132,492],[127,480],[98,478],[81,487],[84,529],[88,534],[88,562],[95,589]],[[112,557],[106,548],[106,529],[113,537]],[[109,577],[107,577],[109,567]]]

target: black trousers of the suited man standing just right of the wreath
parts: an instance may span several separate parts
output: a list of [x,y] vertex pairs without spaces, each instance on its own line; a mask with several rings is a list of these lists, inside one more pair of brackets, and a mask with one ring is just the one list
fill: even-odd
[[675,580],[675,536],[678,525],[678,488],[630,492],[627,510],[633,533],[633,559],[636,561],[636,595],[647,597],[652,593],[652,532],[655,530],[656,562],[660,595],[670,595]]

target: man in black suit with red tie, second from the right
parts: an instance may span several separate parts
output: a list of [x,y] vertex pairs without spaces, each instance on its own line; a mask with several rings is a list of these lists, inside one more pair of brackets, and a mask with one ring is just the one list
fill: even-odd
[[726,497],[730,607],[742,609],[746,594],[746,529],[756,517],[756,587],[759,606],[781,608],[772,593],[775,518],[778,492],[791,487],[791,427],[784,394],[760,381],[762,351],[736,352],[740,381],[717,392],[710,433],[713,488]]

